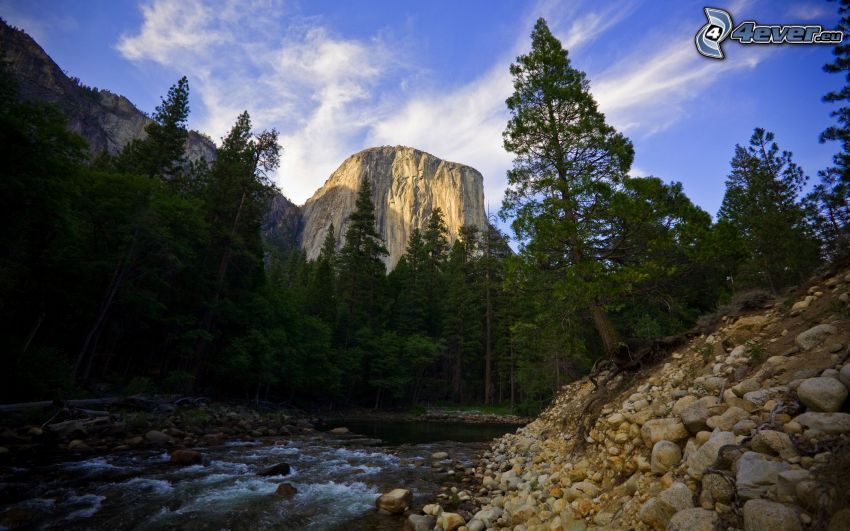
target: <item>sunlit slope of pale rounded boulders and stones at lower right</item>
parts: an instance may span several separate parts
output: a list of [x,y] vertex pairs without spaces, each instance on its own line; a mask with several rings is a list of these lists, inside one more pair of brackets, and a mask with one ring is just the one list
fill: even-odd
[[[408,529],[850,529],[850,271],[563,388]],[[464,493],[466,494],[466,493]]]

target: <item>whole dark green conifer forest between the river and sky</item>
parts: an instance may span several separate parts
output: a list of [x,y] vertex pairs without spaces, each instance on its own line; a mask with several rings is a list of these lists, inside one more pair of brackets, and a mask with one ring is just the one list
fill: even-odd
[[[836,47],[826,70],[846,76],[848,54]],[[654,342],[847,259],[848,85],[825,96],[839,107],[821,141],[838,154],[817,183],[753,124],[730,140],[712,218],[665,180],[676,176],[630,176],[632,143],[544,20],[511,75],[499,217],[454,239],[435,210],[388,271],[366,181],[340,249],[339,227],[316,260],[265,242],[286,146],[244,112],[214,161],[189,162],[185,77],[144,140],[92,158],[4,70],[2,400],[166,392],[528,414],[595,365],[638,363]]]

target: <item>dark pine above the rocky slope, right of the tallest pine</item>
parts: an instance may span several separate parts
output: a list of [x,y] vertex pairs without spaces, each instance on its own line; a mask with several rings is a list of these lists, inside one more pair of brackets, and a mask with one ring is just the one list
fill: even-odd
[[773,139],[773,133],[756,128],[749,146],[735,146],[718,218],[744,241],[748,257],[739,274],[775,292],[811,272],[817,244],[797,201],[806,177]]

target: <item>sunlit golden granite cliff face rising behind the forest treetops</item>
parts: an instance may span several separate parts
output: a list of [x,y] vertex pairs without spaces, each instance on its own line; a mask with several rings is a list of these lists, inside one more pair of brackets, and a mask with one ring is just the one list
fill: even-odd
[[372,185],[389,268],[404,254],[413,229],[424,227],[435,208],[443,211],[451,241],[463,225],[486,227],[484,179],[477,170],[409,147],[369,148],[348,157],[301,208],[301,247],[308,258],[319,255],[331,223],[337,248],[342,247],[363,177]]

